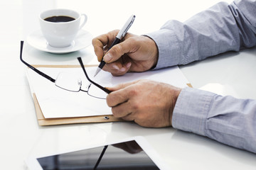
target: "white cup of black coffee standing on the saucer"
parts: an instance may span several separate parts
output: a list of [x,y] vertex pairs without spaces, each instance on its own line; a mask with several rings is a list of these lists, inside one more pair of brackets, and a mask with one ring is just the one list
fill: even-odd
[[[73,21],[46,21],[46,18],[55,17],[60,18],[60,16],[68,16],[73,18]],[[84,20],[81,22],[81,18]],[[39,16],[39,22],[41,26],[41,31],[44,38],[48,42],[48,45],[52,47],[68,47],[71,45],[75,36],[78,34],[85,23],[87,22],[87,16],[82,13],[70,9],[51,9],[48,11],[43,11]]]

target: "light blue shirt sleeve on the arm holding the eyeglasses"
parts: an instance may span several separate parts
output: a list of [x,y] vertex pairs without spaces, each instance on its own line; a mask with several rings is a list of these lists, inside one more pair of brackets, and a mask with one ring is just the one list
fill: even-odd
[[256,153],[256,101],[185,88],[174,108],[174,128]]

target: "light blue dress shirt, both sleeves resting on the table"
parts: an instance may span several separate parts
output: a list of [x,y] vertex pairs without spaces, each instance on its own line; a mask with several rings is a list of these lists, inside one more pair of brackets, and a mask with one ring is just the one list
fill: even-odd
[[[155,69],[254,47],[256,0],[220,2],[184,23],[168,21],[146,35],[159,48]],[[256,100],[185,88],[178,96],[172,125],[256,153]]]

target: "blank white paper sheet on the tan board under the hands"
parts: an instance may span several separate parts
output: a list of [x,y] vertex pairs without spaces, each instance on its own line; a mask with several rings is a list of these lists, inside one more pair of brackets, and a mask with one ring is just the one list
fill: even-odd
[[[138,79],[150,79],[172,84],[178,87],[185,87],[188,80],[183,76],[178,67],[170,67],[155,71],[142,73],[127,73],[122,77],[113,77],[108,72],[100,72],[95,79],[93,75],[97,67],[86,67],[90,79],[101,86],[114,86],[120,83],[135,81]],[[55,79],[60,72],[73,73],[80,75],[82,84],[87,85],[89,81],[85,78],[82,68],[38,68],[41,72],[48,74]],[[107,106],[106,100],[94,98],[87,93],[70,92],[60,89],[48,79],[27,69],[28,81],[31,86],[31,92],[36,94],[38,103],[45,118],[68,118],[82,117],[90,115],[111,115],[111,108]]]

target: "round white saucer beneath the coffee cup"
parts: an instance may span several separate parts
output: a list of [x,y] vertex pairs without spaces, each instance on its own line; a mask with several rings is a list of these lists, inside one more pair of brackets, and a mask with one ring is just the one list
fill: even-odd
[[27,42],[29,45],[35,47],[38,50],[56,54],[63,54],[68,52],[75,52],[78,50],[82,50],[85,47],[88,47],[92,44],[92,35],[86,30],[80,30],[70,46],[58,48],[48,45],[48,42],[43,37],[41,30],[37,30],[28,35]]

